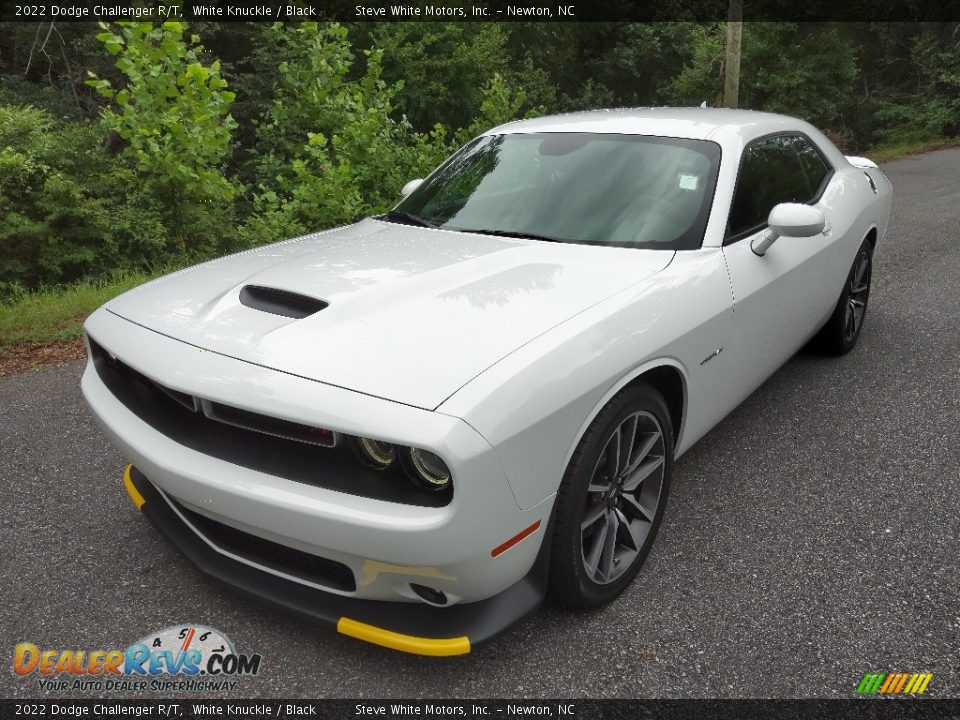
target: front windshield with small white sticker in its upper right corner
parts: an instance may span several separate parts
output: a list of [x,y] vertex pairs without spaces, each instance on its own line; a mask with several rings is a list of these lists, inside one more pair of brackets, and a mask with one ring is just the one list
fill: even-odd
[[720,147],[705,140],[488,135],[385,217],[558,242],[699,248],[719,161]]

